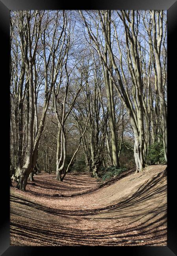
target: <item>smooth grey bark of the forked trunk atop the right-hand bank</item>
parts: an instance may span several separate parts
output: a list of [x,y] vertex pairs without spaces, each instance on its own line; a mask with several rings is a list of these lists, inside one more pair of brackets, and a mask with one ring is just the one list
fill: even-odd
[[[100,17],[100,22],[101,22],[101,27],[102,27],[102,31],[103,31],[103,35],[105,38],[105,42],[107,44],[110,56],[111,56],[111,61],[112,61],[112,66],[114,67],[114,70],[117,74],[118,77],[118,81],[119,81],[119,85],[120,85],[120,90],[118,89],[116,83],[114,82],[114,78],[112,76],[112,80],[114,82],[114,85],[116,87],[116,90],[119,93],[120,98],[123,100],[123,103],[130,115],[130,120],[132,122],[133,125],[133,130],[134,130],[134,134],[135,134],[135,158],[138,159],[138,161],[136,161],[136,164],[138,163],[139,166],[137,166],[136,169],[138,169],[139,171],[142,171],[142,169],[144,168],[144,155],[143,155],[143,149],[144,149],[144,125],[143,125],[143,106],[142,106],[142,92],[141,92],[141,75],[140,75],[140,63],[139,63],[139,59],[138,59],[138,51],[137,51],[137,43],[136,43],[136,35],[135,35],[135,31],[134,31],[134,11],[132,12],[132,22],[130,23],[130,27],[131,27],[131,32],[132,32],[132,39],[133,41],[131,41],[131,52],[132,52],[132,57],[133,57],[133,63],[131,65],[133,65],[134,69],[136,70],[136,76],[134,72],[131,72],[131,75],[135,77],[135,85],[136,85],[136,90],[137,90],[137,104],[138,104],[138,115],[137,115],[137,122],[135,122],[135,117],[134,112],[132,112],[132,108],[131,108],[131,101],[129,100],[129,95],[127,95],[127,93],[125,92],[124,86],[122,84],[122,79],[120,76],[120,72],[118,70],[118,67],[116,66],[115,60],[114,60],[114,55],[112,53],[112,49],[111,46],[109,44],[109,41],[107,39],[107,34],[105,32],[105,28],[103,25],[103,20],[101,18],[101,13],[100,11],[98,11],[98,15]],[[125,33],[126,33],[126,39],[128,37],[128,32],[127,32],[127,26],[125,23],[125,17],[124,17],[124,13],[122,12],[122,20],[124,21],[124,26],[125,26]],[[87,26],[88,28],[88,26]],[[128,43],[126,43],[126,47],[127,47],[127,51],[129,52],[128,49]],[[99,47],[98,47],[99,50]],[[100,51],[99,51],[100,52]],[[100,54],[101,56],[101,54]],[[109,73],[111,74],[111,71],[108,69],[106,63],[104,63],[105,67],[107,68],[107,70],[109,71]],[[133,70],[131,70],[133,71]],[[137,127],[138,124],[138,127]],[[139,130],[139,132],[138,132]]]

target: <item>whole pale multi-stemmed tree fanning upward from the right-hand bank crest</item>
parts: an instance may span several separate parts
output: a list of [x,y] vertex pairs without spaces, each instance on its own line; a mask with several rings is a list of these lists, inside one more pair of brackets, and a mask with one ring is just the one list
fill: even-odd
[[[146,81],[148,80],[147,86],[146,81],[144,82],[146,69],[143,69],[143,63],[146,62],[147,51],[145,49],[146,38],[141,34],[141,26],[143,25],[142,18],[140,17],[139,11],[134,10],[85,11],[84,14],[83,11],[79,11],[79,13],[87,29],[87,36],[89,36],[90,41],[94,43],[92,48],[98,52],[101,63],[104,69],[109,73],[114,88],[129,114],[135,138],[134,155],[136,172],[142,171],[145,166],[145,161],[147,161],[147,148],[151,143],[149,137],[151,124],[154,124],[152,121],[153,113],[150,110],[153,106],[150,85],[153,49],[151,43],[149,43],[149,56],[151,57],[149,59],[148,78],[145,78]],[[117,24],[121,24],[121,30],[117,29]],[[149,24],[149,30],[150,29],[151,23]],[[111,30],[114,32],[112,33]],[[122,31],[124,32],[124,43],[122,43],[123,34],[118,36],[118,31],[119,33],[122,33]],[[159,36],[161,35],[160,33]],[[89,39],[87,41],[89,41]],[[117,48],[115,42],[117,43]],[[142,48],[146,51],[144,56],[142,55]],[[107,58],[105,58],[105,52],[107,51],[109,52],[109,61],[111,61],[111,65],[107,62]],[[147,95],[144,85],[146,85],[146,88],[149,90],[147,101],[145,101],[144,98]],[[151,115],[151,124],[149,115]],[[146,137],[144,130],[145,124],[148,131]]]

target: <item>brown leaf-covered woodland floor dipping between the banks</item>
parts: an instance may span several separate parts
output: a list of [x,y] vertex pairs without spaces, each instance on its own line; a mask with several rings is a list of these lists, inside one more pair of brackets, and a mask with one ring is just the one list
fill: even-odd
[[166,165],[127,171],[100,186],[89,174],[38,174],[10,189],[10,245],[166,246]]

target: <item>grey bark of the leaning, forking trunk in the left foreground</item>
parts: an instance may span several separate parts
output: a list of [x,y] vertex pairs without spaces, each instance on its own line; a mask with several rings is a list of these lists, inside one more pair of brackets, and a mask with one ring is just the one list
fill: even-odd
[[[43,30],[43,37],[41,35],[41,42],[42,45],[44,46],[43,48],[43,52],[44,52],[44,78],[45,78],[45,96],[44,96],[44,105],[43,105],[43,110],[42,110],[42,117],[41,117],[41,121],[39,124],[39,128],[37,131],[37,134],[35,136],[35,141],[33,144],[33,119],[34,119],[34,84],[33,84],[33,65],[35,65],[34,60],[35,60],[35,54],[36,54],[36,50],[37,50],[37,42],[39,40],[39,35],[41,33],[41,20],[42,17],[44,15],[45,11],[43,11],[41,13],[41,11],[36,11],[35,15],[37,17],[37,15],[39,15],[39,22],[37,23],[37,29],[36,29],[36,37],[35,37],[35,47],[33,50],[33,54],[31,52],[31,37],[30,37],[30,16],[28,17],[28,13],[27,13],[27,27],[28,27],[28,47],[29,47],[29,59],[26,59],[26,66],[27,66],[27,70],[28,70],[28,74],[29,74],[29,96],[30,96],[30,111],[29,111],[29,122],[28,122],[28,149],[27,149],[27,159],[26,159],[26,163],[24,165],[24,167],[21,169],[20,171],[20,180],[18,182],[18,187],[20,190],[25,191],[26,188],[26,181],[27,178],[29,176],[29,174],[33,171],[34,167],[35,167],[35,163],[37,161],[37,153],[38,153],[38,148],[39,148],[39,143],[41,140],[41,136],[42,136],[42,132],[44,129],[44,122],[45,122],[45,118],[46,118],[46,113],[48,110],[48,105],[50,102],[50,97],[51,97],[51,93],[52,93],[52,88],[54,83],[56,82],[57,79],[57,75],[58,75],[58,71],[59,71],[59,67],[60,67],[60,59],[58,60],[57,64],[55,63],[54,60],[54,54],[57,50],[57,47],[59,46],[59,41],[62,37],[62,34],[64,32],[64,26],[65,26],[65,14],[63,11],[63,28],[61,29],[61,34],[60,37],[57,41],[57,45],[56,48],[51,49],[51,54],[48,56],[48,62],[46,61],[46,52],[45,52],[45,30],[46,27],[44,27]],[[57,11],[57,15],[58,15],[58,11]],[[54,34],[57,30],[57,24],[55,24],[55,30],[54,30]],[[46,24],[47,26],[47,24]],[[53,42],[54,42],[54,37],[55,35],[53,35]],[[32,37],[34,38],[34,37]],[[52,56],[52,58],[50,59],[50,56]],[[51,82],[50,82],[50,88],[48,86],[48,74],[47,74],[47,69],[49,67],[49,63],[52,63],[52,67],[51,67]]]

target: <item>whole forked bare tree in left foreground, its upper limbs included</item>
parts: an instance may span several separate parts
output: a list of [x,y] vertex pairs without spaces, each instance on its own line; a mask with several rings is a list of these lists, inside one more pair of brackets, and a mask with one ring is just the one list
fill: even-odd
[[[52,41],[49,42],[50,45],[50,51],[48,52],[48,48],[46,47],[46,37],[49,36],[50,30],[50,22],[49,17],[50,11],[22,11],[24,12],[23,16],[23,30],[24,30],[24,38],[26,40],[26,44],[28,45],[28,51],[24,52],[24,61],[26,65],[26,70],[29,78],[29,118],[28,118],[28,147],[26,152],[26,162],[22,169],[20,170],[20,178],[18,181],[17,187],[25,191],[26,188],[26,182],[27,178],[30,173],[33,172],[33,169],[35,167],[35,163],[37,160],[37,152],[39,148],[39,143],[42,135],[42,131],[44,128],[44,122],[46,118],[46,112],[48,109],[48,105],[50,102],[50,97],[52,94],[52,88],[54,83],[57,80],[57,75],[59,72],[60,67],[60,59],[55,62],[55,52],[57,48],[59,47],[60,39],[63,35],[64,28],[65,28],[65,13],[64,11],[57,11],[56,17],[53,17],[53,21],[57,20],[55,24],[55,29],[53,31]],[[45,14],[45,22],[42,23],[42,18]],[[57,29],[57,25],[59,24],[59,20],[63,20],[63,27],[59,30],[60,36],[58,37],[57,41],[55,41],[55,33]],[[46,34],[47,33],[47,34]],[[41,51],[40,51],[41,47]],[[38,52],[39,51],[39,52]],[[36,90],[35,90],[35,83],[33,81],[33,72],[35,70],[34,66],[37,65],[35,62],[36,55],[42,54],[41,61],[43,61],[44,65],[44,82],[45,82],[45,93],[44,93],[44,103],[43,103],[43,110],[42,110],[42,116],[41,121],[39,123],[39,127],[37,127],[37,130],[35,131],[34,135],[34,114],[36,114],[35,111],[35,105],[36,105]],[[48,55],[48,59],[46,56],[46,53]],[[50,69],[50,77],[48,77],[48,70]],[[50,82],[50,86],[49,86]],[[37,119],[35,119],[37,120]],[[35,139],[33,139],[35,138]]]

